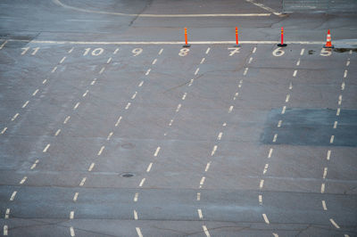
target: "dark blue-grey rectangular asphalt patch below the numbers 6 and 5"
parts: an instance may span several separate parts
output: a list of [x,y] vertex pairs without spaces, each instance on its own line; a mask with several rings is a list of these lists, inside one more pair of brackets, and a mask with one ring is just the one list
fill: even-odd
[[[279,120],[282,120],[281,127],[278,127]],[[338,124],[333,128],[335,121]],[[278,137],[273,143],[275,134]],[[330,143],[331,135],[335,135],[333,143]],[[355,147],[357,110],[341,110],[340,116],[331,109],[286,109],[285,114],[281,114],[281,108],[270,110],[261,143]]]

